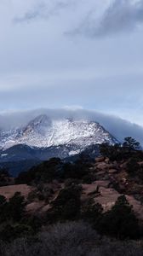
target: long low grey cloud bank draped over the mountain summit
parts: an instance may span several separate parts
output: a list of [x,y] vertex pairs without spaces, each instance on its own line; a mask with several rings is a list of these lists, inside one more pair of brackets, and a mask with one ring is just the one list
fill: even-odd
[[73,109],[36,109],[31,111],[11,111],[0,113],[0,128],[8,129],[12,126],[26,125],[31,119],[39,114],[47,114],[51,119],[88,119],[99,122],[107,131],[122,142],[124,137],[134,137],[143,145],[143,127],[135,125],[125,119],[120,119],[114,115],[88,111],[80,108]]

